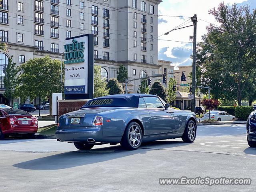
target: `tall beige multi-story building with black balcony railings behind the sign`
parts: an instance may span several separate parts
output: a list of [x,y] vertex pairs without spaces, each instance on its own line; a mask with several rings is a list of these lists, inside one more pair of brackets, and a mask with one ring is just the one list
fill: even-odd
[[[0,93],[4,65],[49,55],[60,59],[66,38],[94,34],[94,63],[102,78],[116,77],[123,64],[128,78],[158,72],[158,4],[161,0],[3,0],[0,8]],[[135,84],[135,86],[133,85]],[[132,82],[136,92],[140,81]]]

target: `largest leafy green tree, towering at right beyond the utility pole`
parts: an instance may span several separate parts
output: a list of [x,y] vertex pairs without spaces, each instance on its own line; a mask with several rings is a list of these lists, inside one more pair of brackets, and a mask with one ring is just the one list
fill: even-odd
[[210,14],[220,26],[208,26],[198,43],[198,83],[210,86],[215,98],[236,99],[240,106],[242,93],[256,70],[256,10],[251,13],[248,6],[221,3]]

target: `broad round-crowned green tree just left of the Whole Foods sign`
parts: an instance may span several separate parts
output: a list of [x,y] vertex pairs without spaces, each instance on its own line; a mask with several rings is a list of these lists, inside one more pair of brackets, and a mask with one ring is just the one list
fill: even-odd
[[[62,63],[62,68],[64,64]],[[34,58],[18,67],[20,75],[16,87],[16,95],[21,98],[36,98],[50,102],[50,114],[52,114],[52,93],[60,92],[64,88],[64,71],[62,82],[60,81],[60,60],[52,60],[49,56]]]

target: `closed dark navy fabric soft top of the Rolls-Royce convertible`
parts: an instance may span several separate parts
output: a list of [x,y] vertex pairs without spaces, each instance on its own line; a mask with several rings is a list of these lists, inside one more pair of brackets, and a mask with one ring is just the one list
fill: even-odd
[[140,97],[157,97],[149,94],[118,94],[108,95],[88,101],[83,108],[93,107],[138,107]]

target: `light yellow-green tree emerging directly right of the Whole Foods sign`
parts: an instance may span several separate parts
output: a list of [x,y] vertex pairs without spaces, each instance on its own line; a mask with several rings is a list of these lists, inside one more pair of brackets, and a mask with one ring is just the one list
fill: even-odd
[[101,78],[100,68],[100,66],[94,65],[94,98],[108,95],[107,82]]

